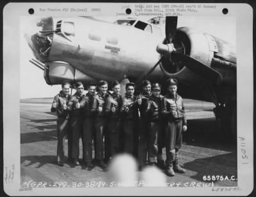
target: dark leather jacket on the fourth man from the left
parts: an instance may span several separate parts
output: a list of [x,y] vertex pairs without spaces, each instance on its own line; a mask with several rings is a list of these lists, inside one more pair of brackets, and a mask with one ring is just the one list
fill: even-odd
[[[92,108],[91,112],[96,117],[105,117],[104,110],[105,110],[105,101],[109,97],[109,94],[106,93],[104,96],[101,92],[99,92],[97,95],[94,96],[93,102],[92,102]],[[98,112],[97,108],[99,106],[102,106],[102,112]]]

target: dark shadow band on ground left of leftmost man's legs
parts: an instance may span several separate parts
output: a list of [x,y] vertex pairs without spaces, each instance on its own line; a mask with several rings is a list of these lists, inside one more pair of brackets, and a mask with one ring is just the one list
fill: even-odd
[[42,142],[42,141],[53,141],[57,140],[57,131],[39,131],[31,133],[21,133],[20,134],[20,143],[33,143],[33,142]]

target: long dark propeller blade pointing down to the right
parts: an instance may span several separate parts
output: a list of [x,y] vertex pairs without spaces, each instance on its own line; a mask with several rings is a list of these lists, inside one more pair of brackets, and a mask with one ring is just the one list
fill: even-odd
[[206,66],[205,64],[194,59],[193,57],[190,57],[185,54],[173,52],[172,58],[174,61],[182,62],[184,66],[186,66],[188,69],[200,75],[200,77],[204,78],[205,80],[214,82],[214,84],[216,85],[220,84],[223,80],[219,72],[215,71],[209,66]]

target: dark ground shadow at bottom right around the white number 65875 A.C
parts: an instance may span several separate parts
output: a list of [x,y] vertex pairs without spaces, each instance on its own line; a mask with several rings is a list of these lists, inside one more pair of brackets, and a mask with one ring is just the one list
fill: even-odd
[[[197,174],[191,176],[195,180],[204,182],[203,177],[206,175],[222,175],[223,178],[228,176],[230,179],[235,176],[237,179],[237,154],[236,152],[221,154],[218,156],[207,157],[204,159],[195,159],[194,161],[184,163],[186,170],[196,171]],[[220,180],[211,180],[209,182],[218,182]]]

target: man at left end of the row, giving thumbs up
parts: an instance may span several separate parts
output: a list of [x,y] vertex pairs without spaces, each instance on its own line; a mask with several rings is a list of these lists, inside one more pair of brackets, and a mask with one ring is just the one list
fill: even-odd
[[64,138],[65,135],[68,135],[68,159],[71,158],[71,136],[70,136],[70,120],[67,110],[67,102],[71,98],[70,91],[70,82],[63,82],[61,84],[62,90],[57,94],[52,102],[51,112],[56,112],[58,115],[57,118],[57,163],[59,166],[63,166],[64,162]]

